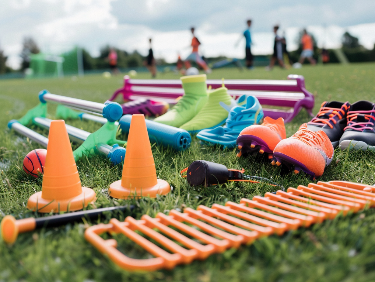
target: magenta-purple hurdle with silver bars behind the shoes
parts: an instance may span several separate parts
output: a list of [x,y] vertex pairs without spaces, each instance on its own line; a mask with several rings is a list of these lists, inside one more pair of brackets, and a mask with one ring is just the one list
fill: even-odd
[[[207,86],[212,89],[222,86],[220,79],[208,79]],[[267,79],[226,79],[225,87],[228,94],[238,98],[243,94],[254,95],[262,105],[290,107],[289,110],[267,109],[263,107],[264,116],[284,118],[290,122],[304,107],[309,115],[314,107],[314,96],[305,88],[305,78],[302,75],[288,75],[287,80]],[[124,76],[124,87],[115,91],[110,101],[118,94],[124,100],[136,100],[140,97],[153,97],[154,100],[176,103],[176,98],[184,94],[179,79],[130,79]]]

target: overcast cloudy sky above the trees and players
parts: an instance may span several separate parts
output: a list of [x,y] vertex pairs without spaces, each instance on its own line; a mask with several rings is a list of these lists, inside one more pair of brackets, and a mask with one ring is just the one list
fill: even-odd
[[374,0],[1,0],[0,48],[17,67],[24,36],[45,52],[78,44],[92,55],[107,44],[146,54],[153,37],[154,54],[175,61],[189,53],[189,27],[196,27],[206,57],[243,57],[244,42],[234,43],[253,20],[255,54],[272,51],[272,26],[281,25],[288,49],[296,48],[299,30],[307,27],[319,45],[339,47],[349,30],[367,48],[375,42]]

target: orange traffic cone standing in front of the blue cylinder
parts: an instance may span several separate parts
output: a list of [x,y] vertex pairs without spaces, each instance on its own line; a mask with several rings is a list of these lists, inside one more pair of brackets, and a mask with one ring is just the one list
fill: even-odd
[[156,194],[165,195],[169,191],[168,182],[156,178],[144,115],[132,115],[122,177],[110,185],[108,194],[118,199],[132,196],[155,198]]

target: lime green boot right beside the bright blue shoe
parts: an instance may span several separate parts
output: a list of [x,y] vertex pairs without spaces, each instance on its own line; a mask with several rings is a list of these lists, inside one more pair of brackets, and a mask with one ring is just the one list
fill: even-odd
[[220,87],[208,93],[208,101],[204,107],[180,128],[193,134],[199,130],[217,127],[225,123],[228,112],[234,106],[238,106],[227,90],[226,87]]

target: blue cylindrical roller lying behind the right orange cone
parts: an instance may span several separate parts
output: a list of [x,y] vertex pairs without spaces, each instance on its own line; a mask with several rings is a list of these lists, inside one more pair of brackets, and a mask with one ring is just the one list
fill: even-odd
[[[129,132],[131,115],[123,115],[120,118],[120,128],[123,132]],[[170,146],[176,151],[184,151],[189,148],[191,136],[184,129],[173,127],[146,119],[148,137],[151,143],[157,143],[165,147]]]

